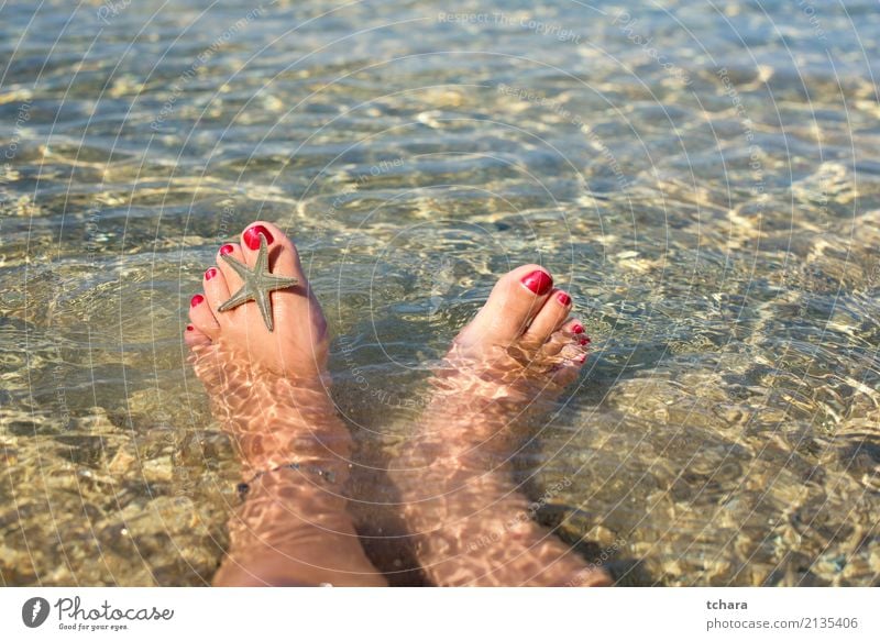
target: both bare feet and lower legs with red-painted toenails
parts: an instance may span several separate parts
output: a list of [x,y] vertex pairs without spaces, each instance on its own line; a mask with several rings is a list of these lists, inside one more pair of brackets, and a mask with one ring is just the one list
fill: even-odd
[[[220,256],[253,266],[261,235],[274,331],[253,302],[218,312],[242,285]],[[293,242],[255,222],[220,247],[193,297],[185,339],[215,416],[242,460],[246,497],[230,519],[218,585],[384,585],[346,509],[351,439],[328,393],[327,321]],[[521,416],[553,398],[586,358],[571,297],[525,265],[503,276],[453,342],[433,397],[389,475],[416,556],[436,585],[606,585],[607,574],[539,527],[508,461]]]

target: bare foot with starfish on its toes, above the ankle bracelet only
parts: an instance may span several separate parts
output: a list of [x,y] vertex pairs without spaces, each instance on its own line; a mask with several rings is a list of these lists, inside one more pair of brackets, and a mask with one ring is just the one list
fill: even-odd
[[[253,267],[261,236],[268,246],[272,274],[298,280],[270,295],[274,331],[266,328],[253,301],[218,311],[242,286],[221,256]],[[348,431],[338,421],[321,418],[333,416],[326,377],[327,321],[296,247],[274,224],[257,222],[244,230],[241,243],[221,246],[216,259],[202,275],[204,294],[190,300],[193,324],[184,335],[215,415],[237,440],[244,475],[308,457],[336,466],[346,463]],[[280,416],[286,406],[293,406],[290,413],[308,419],[299,422],[311,423],[311,429],[294,429],[290,417]],[[309,442],[316,435],[324,436],[323,447]]]

